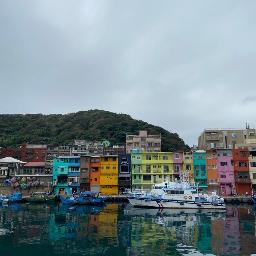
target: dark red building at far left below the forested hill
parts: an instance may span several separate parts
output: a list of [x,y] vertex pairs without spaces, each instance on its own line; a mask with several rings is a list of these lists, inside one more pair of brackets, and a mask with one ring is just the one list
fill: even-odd
[[20,148],[0,148],[0,158],[13,157],[23,162],[45,162],[46,145],[22,142]]

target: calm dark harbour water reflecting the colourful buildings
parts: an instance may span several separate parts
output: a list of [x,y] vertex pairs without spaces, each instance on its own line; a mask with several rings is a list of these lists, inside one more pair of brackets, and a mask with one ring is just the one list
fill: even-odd
[[256,205],[226,211],[130,204],[0,206],[0,256],[254,255]]

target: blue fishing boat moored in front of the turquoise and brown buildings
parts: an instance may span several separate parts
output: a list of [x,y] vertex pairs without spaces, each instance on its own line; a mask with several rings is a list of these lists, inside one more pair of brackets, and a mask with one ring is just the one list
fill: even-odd
[[61,202],[63,204],[100,204],[106,201],[107,197],[100,197],[100,192],[86,191],[80,193],[78,196],[68,197],[60,196]]

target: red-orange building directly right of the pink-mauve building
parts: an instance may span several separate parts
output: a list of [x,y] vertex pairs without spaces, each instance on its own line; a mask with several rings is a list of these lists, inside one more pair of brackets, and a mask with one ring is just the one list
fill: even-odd
[[240,195],[252,191],[252,181],[249,175],[248,149],[233,149],[234,172],[236,181],[236,192]]

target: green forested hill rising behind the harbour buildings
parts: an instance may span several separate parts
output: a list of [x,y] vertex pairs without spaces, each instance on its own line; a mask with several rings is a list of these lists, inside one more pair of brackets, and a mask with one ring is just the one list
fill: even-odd
[[106,139],[111,145],[125,145],[126,134],[162,136],[162,151],[189,151],[177,133],[153,126],[130,115],[105,110],[88,110],[67,115],[16,114],[0,115],[0,147],[30,144],[69,144],[76,140]]

